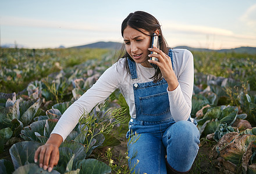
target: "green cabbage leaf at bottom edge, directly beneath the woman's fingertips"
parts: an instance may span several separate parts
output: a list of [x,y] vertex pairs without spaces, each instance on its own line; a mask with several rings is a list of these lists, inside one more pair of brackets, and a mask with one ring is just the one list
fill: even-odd
[[32,174],[32,173],[42,173],[42,174],[47,174],[47,173],[53,173],[53,174],[60,174],[59,172],[52,170],[51,172],[44,171],[44,169],[40,168],[37,164],[27,164],[20,166],[19,168],[16,169],[13,174]]

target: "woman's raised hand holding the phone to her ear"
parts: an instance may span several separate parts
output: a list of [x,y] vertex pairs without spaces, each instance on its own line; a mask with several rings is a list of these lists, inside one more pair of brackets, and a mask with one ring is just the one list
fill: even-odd
[[148,60],[150,63],[155,64],[161,70],[163,78],[165,78],[166,82],[168,83],[168,90],[172,91],[177,88],[179,82],[177,81],[176,75],[172,68],[172,61],[170,57],[166,55],[162,50],[153,46],[153,48],[148,48],[151,52],[155,52],[157,54],[150,54],[148,57],[156,57],[158,61],[155,60]]

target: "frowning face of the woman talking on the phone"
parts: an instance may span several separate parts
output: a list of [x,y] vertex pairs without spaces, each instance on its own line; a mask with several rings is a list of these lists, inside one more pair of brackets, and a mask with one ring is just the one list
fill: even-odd
[[[140,29],[145,34],[150,35],[149,32]],[[152,67],[148,62],[148,55],[151,45],[151,37],[143,34],[142,32],[127,26],[123,31],[123,40],[125,41],[125,48],[127,53],[136,62],[140,63],[144,67]]]

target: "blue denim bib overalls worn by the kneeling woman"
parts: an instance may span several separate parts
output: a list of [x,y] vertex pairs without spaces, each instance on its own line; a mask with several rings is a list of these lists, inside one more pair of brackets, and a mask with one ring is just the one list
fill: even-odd
[[[169,57],[173,64],[171,49]],[[136,79],[136,63],[128,59],[128,65],[131,78]],[[136,118],[130,119],[126,135],[137,134],[127,145],[131,172],[166,173],[165,155],[172,168],[180,172],[189,171],[194,162],[200,143],[196,122],[190,118],[174,121],[167,88],[165,79],[133,84]]]

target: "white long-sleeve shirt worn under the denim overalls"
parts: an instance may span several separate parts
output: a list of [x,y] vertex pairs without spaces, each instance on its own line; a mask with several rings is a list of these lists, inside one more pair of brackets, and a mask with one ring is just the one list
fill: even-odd
[[[191,97],[194,85],[194,63],[193,55],[186,49],[173,49],[173,70],[176,74],[179,85],[173,91],[168,91],[170,113],[175,121],[186,120],[191,113]],[[136,118],[134,104],[133,84],[150,82],[154,68],[147,68],[136,63],[137,77],[131,79],[131,75],[125,70],[125,58],[119,59],[117,63],[109,67],[99,77],[98,81],[72,104],[61,119],[59,119],[52,133],[63,137],[63,140],[76,126],[79,118],[84,113],[90,113],[93,107],[104,102],[111,93],[120,89],[129,106],[130,115]]]

